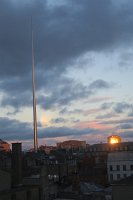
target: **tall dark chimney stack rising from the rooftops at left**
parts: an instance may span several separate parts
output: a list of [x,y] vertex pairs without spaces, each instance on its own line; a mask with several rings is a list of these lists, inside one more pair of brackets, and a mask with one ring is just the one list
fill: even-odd
[[12,143],[12,187],[22,185],[21,143]]

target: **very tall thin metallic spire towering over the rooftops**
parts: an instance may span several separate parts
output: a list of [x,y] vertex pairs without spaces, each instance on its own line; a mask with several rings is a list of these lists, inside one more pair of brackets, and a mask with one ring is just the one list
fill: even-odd
[[37,152],[37,114],[36,114],[36,95],[35,95],[35,72],[34,72],[34,34],[32,29],[31,17],[31,39],[32,39],[32,93],[33,93],[33,128],[34,128],[34,151]]

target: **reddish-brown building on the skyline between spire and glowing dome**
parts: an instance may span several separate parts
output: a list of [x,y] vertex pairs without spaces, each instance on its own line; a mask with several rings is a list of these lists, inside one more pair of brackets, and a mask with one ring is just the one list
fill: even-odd
[[86,149],[86,142],[79,140],[68,140],[57,143],[57,148],[61,149]]

